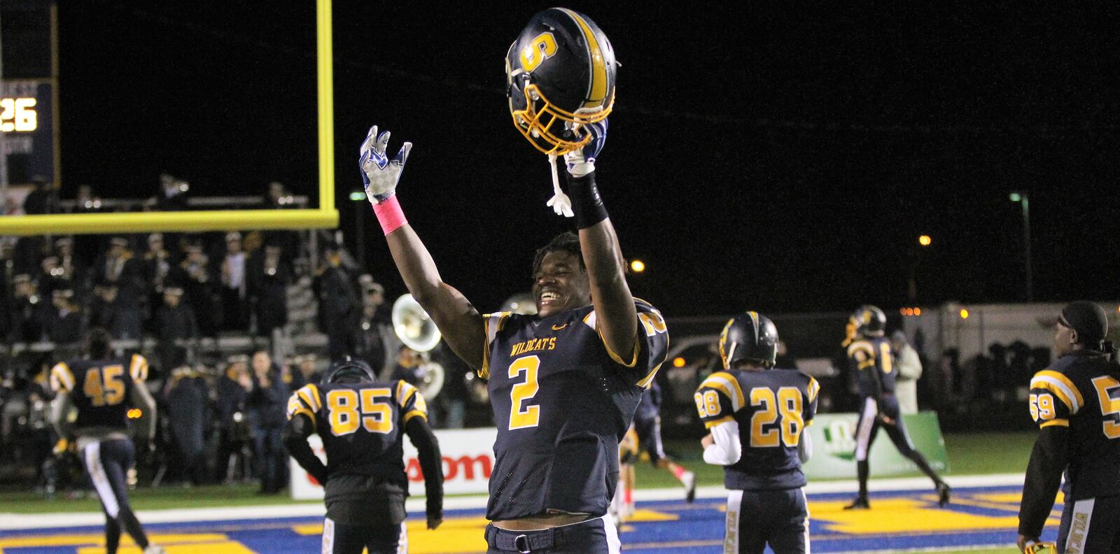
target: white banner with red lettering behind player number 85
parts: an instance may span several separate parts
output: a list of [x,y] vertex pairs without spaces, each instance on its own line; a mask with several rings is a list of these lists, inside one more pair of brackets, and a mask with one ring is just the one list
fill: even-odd
[[[456,429],[436,431],[440,454],[444,457],[444,492],[448,495],[487,492],[491,471],[494,469],[494,440],[497,430]],[[323,441],[319,435],[307,439],[311,450],[324,462]],[[315,482],[304,468],[290,459],[291,497],[297,500],[323,498],[323,487]],[[423,475],[417,460],[417,449],[404,440],[404,471],[409,477],[409,494],[423,496]]]

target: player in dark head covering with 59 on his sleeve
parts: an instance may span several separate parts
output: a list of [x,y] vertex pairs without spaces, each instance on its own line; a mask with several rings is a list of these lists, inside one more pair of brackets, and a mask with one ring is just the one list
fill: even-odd
[[1102,345],[1108,316],[1093,302],[1073,302],[1054,327],[1057,360],[1030,379],[1030,417],[1040,429],[1023,483],[1018,546],[1035,552],[1065,472],[1057,552],[1120,553],[1120,367]]

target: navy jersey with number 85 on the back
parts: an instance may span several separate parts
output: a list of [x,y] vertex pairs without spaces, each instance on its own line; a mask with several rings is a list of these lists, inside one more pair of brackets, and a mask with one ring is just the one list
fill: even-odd
[[395,383],[309,384],[288,401],[288,419],[304,414],[323,439],[327,453],[327,496],[335,476],[384,478],[407,490],[404,475],[404,424],[412,417],[428,419],[428,405],[417,387]]

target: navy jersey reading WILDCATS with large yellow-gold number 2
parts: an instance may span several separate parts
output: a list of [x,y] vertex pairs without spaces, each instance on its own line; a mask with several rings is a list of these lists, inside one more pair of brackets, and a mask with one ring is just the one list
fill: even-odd
[[618,442],[669,347],[661,313],[642,300],[635,304],[638,331],[626,353],[606,347],[591,306],[543,319],[485,316],[478,376],[488,379],[497,425],[488,519],[607,513]]

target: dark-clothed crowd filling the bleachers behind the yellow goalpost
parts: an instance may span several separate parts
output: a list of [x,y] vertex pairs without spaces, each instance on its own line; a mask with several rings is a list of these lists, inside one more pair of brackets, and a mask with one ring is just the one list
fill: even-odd
[[[186,208],[186,189],[167,177],[144,209]],[[116,209],[108,204],[88,187],[60,203],[39,186],[25,210]],[[290,205],[280,184],[261,203]],[[439,349],[404,347],[384,288],[358,275],[336,236],[311,233],[0,237],[0,480],[24,482],[34,470],[37,486],[52,491],[68,473],[80,476],[66,471],[72,454],[52,452],[59,438],[47,420],[47,375],[55,363],[81,356],[93,327],[108,329],[121,354],[150,363],[160,431],[140,466],[156,482],[251,480],[262,492],[280,490],[288,479],[280,441],[287,400],[345,356],[414,384],[421,366],[439,360],[454,375],[432,403],[433,416],[461,426],[466,368]],[[293,292],[307,297],[306,321],[289,320]],[[309,335],[321,340],[295,346],[293,336]],[[72,485],[81,488],[81,479]]]

